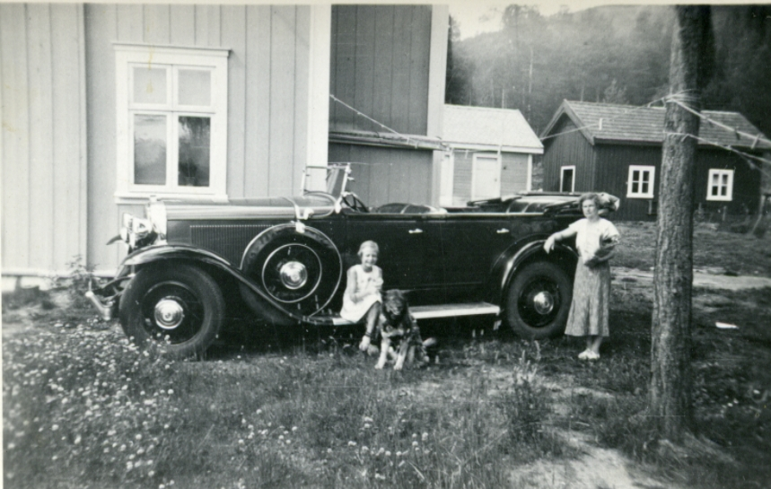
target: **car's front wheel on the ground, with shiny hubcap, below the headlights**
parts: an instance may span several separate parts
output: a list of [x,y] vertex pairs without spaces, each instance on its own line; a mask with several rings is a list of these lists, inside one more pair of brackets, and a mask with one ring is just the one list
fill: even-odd
[[163,354],[202,354],[224,322],[219,286],[203,270],[186,265],[145,267],[127,284],[120,324],[138,345],[153,342]]

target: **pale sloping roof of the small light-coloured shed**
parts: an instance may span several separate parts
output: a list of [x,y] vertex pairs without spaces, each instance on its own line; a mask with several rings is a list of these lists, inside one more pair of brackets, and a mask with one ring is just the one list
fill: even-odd
[[456,148],[543,153],[538,135],[516,109],[445,105],[442,139]]

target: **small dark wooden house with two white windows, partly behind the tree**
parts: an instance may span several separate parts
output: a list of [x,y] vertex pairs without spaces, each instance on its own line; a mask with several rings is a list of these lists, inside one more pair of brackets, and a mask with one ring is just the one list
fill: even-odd
[[[544,190],[603,191],[618,196],[618,220],[653,220],[658,202],[665,109],[565,100],[541,134]],[[695,209],[755,212],[758,162],[771,144],[737,112],[705,110],[699,128]],[[727,130],[731,127],[733,130]],[[742,134],[740,134],[742,133]],[[749,137],[748,135],[758,135]]]

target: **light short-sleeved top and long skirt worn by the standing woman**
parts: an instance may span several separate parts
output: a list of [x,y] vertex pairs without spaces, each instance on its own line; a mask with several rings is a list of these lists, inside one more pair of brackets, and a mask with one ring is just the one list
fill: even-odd
[[602,218],[596,223],[580,219],[569,227],[577,232],[575,247],[579,260],[565,335],[609,336],[610,265],[608,261],[595,266],[587,266],[585,262],[614,247],[618,243],[618,230]]

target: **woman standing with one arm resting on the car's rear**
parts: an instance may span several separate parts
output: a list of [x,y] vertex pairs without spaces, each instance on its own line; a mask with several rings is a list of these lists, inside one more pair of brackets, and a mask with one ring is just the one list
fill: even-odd
[[602,339],[610,335],[609,259],[615,253],[619,234],[613,223],[600,217],[600,196],[583,194],[578,199],[578,205],[584,218],[549,236],[543,248],[548,253],[554,249],[555,241],[575,236],[579,259],[575,267],[573,303],[565,335],[586,336],[586,350],[578,354],[578,358],[597,360],[600,358]]

